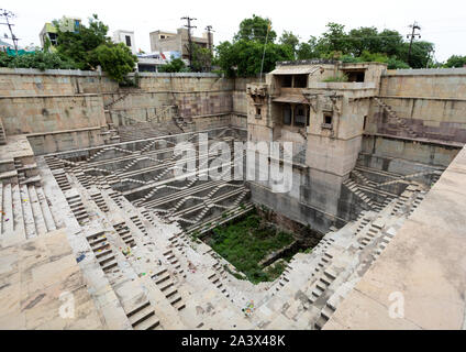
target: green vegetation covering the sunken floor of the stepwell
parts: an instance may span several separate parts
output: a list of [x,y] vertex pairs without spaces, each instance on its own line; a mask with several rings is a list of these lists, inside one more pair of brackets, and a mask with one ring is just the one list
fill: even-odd
[[277,230],[257,213],[252,213],[243,220],[214,229],[209,245],[244,273],[248,280],[257,284],[280,276],[286,266],[284,263],[277,263],[267,271],[258,263],[292,241],[291,233]]

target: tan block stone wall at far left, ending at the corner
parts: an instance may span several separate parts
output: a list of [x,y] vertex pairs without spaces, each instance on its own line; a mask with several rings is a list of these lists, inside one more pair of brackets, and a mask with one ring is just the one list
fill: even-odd
[[118,89],[95,72],[0,68],[0,118],[7,135],[27,134],[35,154],[101,145],[101,94]]

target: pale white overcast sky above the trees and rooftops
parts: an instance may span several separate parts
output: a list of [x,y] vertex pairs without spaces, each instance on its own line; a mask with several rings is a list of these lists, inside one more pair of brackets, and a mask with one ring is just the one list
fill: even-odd
[[[328,22],[337,22],[354,29],[376,26],[409,33],[408,25],[418,21],[422,40],[435,44],[435,58],[445,61],[453,54],[466,55],[465,0],[390,0],[390,1],[115,1],[115,0],[2,0],[1,7],[15,12],[15,35],[20,46],[40,44],[38,33],[45,22],[65,15],[87,19],[97,13],[115,30],[135,32],[136,47],[149,52],[148,33],[155,30],[176,31],[185,24],[181,16],[197,19],[195,35],[201,35],[210,24],[215,33],[214,44],[231,40],[240,22],[252,14],[268,16],[278,35],[291,31],[303,41],[325,31]],[[3,26],[2,35],[7,32]]]

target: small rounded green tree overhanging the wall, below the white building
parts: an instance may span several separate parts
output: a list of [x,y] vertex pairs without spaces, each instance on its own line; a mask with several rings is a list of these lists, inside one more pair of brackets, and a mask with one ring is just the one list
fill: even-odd
[[124,81],[126,75],[133,72],[137,61],[123,43],[99,45],[95,51],[95,56],[102,69],[119,82]]

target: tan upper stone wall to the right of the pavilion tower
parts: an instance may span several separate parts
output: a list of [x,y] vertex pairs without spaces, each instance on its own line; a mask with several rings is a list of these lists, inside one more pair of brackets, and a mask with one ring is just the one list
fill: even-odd
[[[415,133],[412,136],[466,143],[466,68],[388,70],[379,97]],[[408,136],[375,101],[366,132]]]

